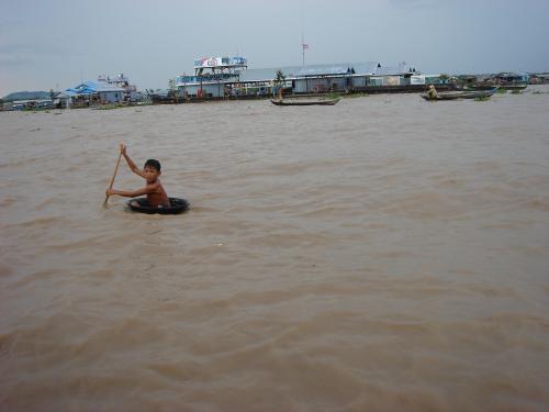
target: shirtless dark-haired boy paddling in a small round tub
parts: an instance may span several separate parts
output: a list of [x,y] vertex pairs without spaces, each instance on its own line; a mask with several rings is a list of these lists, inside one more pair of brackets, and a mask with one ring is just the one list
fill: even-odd
[[126,159],[127,166],[130,169],[145,179],[146,185],[142,189],[137,190],[116,190],[116,189],[108,189],[107,196],[119,194],[126,198],[135,198],[138,196],[146,194],[149,207],[152,208],[169,208],[170,202],[168,199],[168,194],[164,190],[163,185],[160,183],[160,175],[161,175],[161,166],[160,162],[156,159],[148,159],[145,162],[145,166],[143,170],[135,166],[135,163],[130,158],[126,153],[126,145],[120,144],[120,152],[122,156]]

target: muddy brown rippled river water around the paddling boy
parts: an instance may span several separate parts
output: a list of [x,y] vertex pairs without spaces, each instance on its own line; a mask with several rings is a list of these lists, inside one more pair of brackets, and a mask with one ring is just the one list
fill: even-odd
[[548,91],[0,113],[0,410],[548,411]]

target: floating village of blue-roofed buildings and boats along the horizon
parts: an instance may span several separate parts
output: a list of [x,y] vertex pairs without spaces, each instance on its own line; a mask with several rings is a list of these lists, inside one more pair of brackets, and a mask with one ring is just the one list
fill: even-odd
[[429,75],[405,63],[396,67],[369,63],[249,70],[243,56],[199,58],[193,71],[170,79],[164,90],[138,90],[123,74],[100,75],[61,91],[11,93],[0,101],[0,110],[111,109],[243,99],[271,99],[279,105],[335,104],[350,94],[405,92],[424,93],[426,100],[484,99],[496,91],[520,92],[528,85],[549,82],[547,73]]

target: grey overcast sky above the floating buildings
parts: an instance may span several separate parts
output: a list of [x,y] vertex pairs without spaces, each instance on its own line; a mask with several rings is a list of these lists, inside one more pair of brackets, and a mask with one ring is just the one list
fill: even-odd
[[549,70],[549,0],[0,0],[0,96],[117,73],[166,88],[202,56],[296,66],[302,33],[307,64]]

